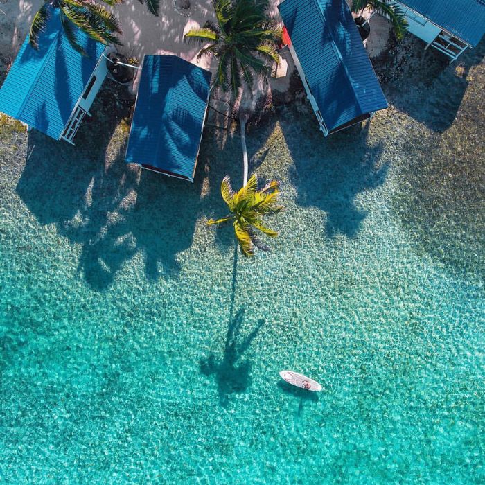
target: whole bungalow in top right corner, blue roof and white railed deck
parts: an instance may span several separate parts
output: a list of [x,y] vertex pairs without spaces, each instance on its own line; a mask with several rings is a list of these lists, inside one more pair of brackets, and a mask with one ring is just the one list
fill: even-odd
[[451,62],[485,34],[484,0],[396,0],[404,10],[407,29],[428,48],[448,55]]

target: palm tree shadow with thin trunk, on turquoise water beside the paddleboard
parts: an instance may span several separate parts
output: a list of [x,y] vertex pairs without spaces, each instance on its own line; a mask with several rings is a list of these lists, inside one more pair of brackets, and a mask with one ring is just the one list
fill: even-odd
[[224,353],[222,359],[215,354],[200,361],[200,371],[205,376],[215,375],[218,385],[219,403],[222,407],[229,405],[230,394],[244,392],[251,385],[252,363],[244,357],[245,352],[251,346],[252,341],[258,335],[261,326],[265,324],[263,319],[246,337],[241,336],[241,328],[245,317],[245,308],[239,308],[236,315],[233,315],[234,301],[236,294],[236,269],[238,260],[238,248],[234,249],[233,279],[231,291],[231,308],[229,310],[229,327],[227,328],[226,340],[224,342]]

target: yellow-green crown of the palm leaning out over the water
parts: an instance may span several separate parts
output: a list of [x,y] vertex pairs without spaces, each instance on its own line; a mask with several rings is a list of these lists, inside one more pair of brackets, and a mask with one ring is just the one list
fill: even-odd
[[211,226],[232,221],[236,238],[246,256],[254,256],[255,247],[270,249],[258,238],[256,230],[271,238],[278,236],[276,231],[266,227],[261,221],[262,215],[278,213],[283,209],[278,205],[278,182],[272,180],[258,190],[258,179],[256,175],[252,175],[243,188],[234,192],[231,180],[226,176],[222,180],[220,192],[231,213],[218,220],[210,219],[207,224]]

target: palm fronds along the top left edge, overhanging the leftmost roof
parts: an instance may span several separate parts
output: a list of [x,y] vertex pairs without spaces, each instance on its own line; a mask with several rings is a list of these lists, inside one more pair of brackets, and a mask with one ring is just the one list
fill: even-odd
[[[60,10],[60,21],[64,34],[71,46],[76,51],[86,55],[84,48],[76,39],[75,27],[89,35],[96,42],[102,44],[121,45],[117,34],[121,34],[121,26],[118,19],[109,12],[106,6],[115,6],[123,0],[44,0],[44,5],[35,14],[30,26],[29,42],[34,48],[39,47],[39,33],[45,30],[50,17],[50,9]],[[154,15],[158,15],[159,0],[139,0],[145,3],[148,10]]]

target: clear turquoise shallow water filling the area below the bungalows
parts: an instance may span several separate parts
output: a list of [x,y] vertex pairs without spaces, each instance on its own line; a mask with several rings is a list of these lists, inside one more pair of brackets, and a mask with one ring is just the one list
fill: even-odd
[[457,141],[392,108],[327,140],[305,120],[248,135],[286,206],[253,261],[204,224],[240,182],[237,138],[206,132],[191,185],[125,168],[116,136],[90,145],[113,130],[96,120],[76,150],[8,134],[3,482],[484,482],[483,212],[464,224],[468,179],[446,215],[423,181],[435,160],[457,177]]

